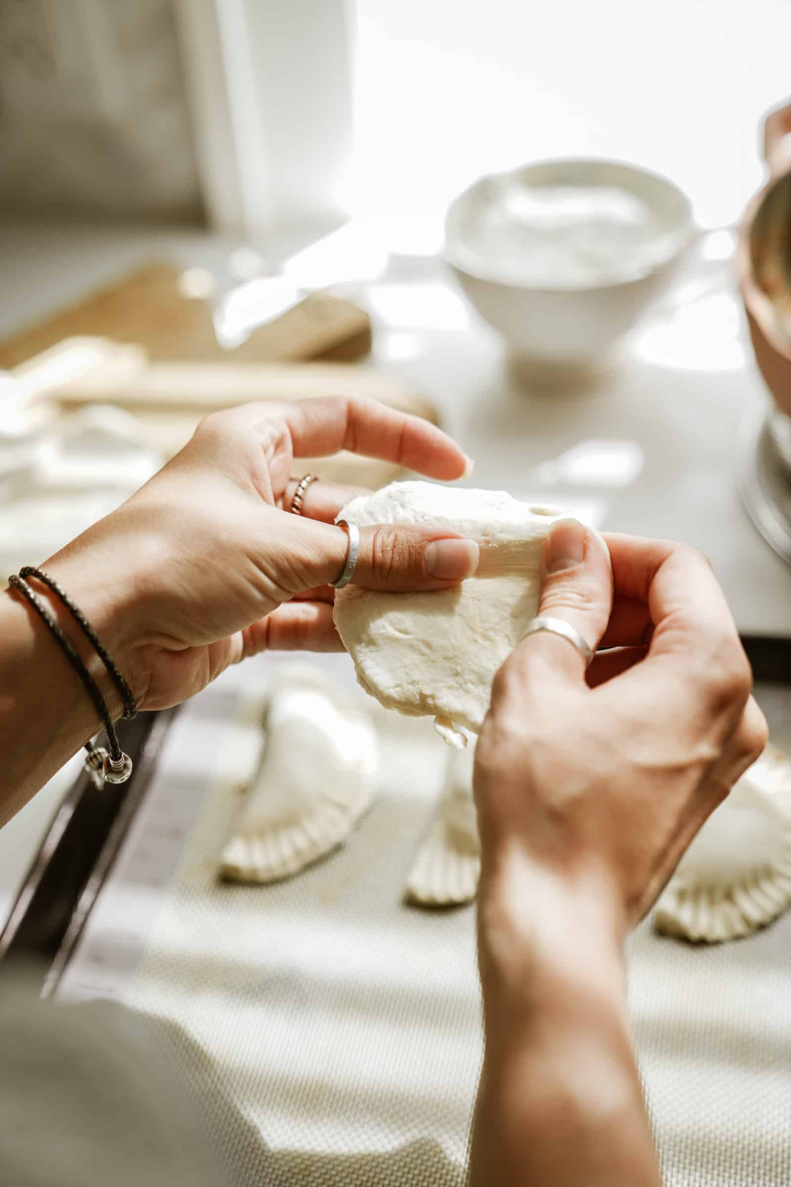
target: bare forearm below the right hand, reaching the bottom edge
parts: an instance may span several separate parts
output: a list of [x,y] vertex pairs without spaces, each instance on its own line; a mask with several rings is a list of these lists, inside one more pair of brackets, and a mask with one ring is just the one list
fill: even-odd
[[620,945],[573,902],[527,901],[543,914],[527,945],[491,900],[481,906],[486,1053],[471,1187],[658,1187]]

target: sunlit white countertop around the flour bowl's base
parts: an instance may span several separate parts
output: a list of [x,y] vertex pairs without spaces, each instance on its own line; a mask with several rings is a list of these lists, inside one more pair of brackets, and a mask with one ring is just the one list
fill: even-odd
[[[138,264],[165,258],[223,269],[232,246],[172,229],[2,226],[0,337]],[[282,245],[269,254],[282,254]],[[791,635],[791,567],[753,528],[735,488],[739,425],[766,395],[727,269],[710,296],[646,326],[588,389],[525,388],[497,335],[430,260],[394,259],[359,296],[376,320],[375,362],[409,375],[435,404],[476,459],[468,484],[557,503],[599,527],[685,540],[710,558],[742,631]],[[612,472],[588,466],[583,483],[561,481],[553,459],[586,442],[610,443],[611,455],[642,453],[639,474],[617,485]],[[56,791],[0,832],[0,918]]]

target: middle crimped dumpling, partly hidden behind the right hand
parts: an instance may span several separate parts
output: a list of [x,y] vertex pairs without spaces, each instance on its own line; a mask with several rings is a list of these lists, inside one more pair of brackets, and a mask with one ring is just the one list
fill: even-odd
[[478,890],[480,840],[472,799],[474,747],[448,751],[442,795],[407,878],[407,902],[449,907]]

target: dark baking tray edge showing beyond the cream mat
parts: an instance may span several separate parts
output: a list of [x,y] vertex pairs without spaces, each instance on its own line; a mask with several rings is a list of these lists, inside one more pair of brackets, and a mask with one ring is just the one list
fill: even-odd
[[[741,641],[757,683],[791,685],[791,637],[742,635]],[[129,782],[98,792],[88,776],[81,776],[33,858],[0,933],[0,960],[38,958],[44,995],[57,988],[151,783],[177,712],[141,713],[132,723],[125,734],[135,764]]]

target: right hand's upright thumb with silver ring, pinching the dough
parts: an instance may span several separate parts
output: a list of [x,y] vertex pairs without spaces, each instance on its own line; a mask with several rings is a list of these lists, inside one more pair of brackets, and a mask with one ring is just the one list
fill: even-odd
[[[612,590],[610,553],[601,537],[576,520],[556,520],[541,556],[537,616],[562,618],[594,652],[610,621]],[[574,678],[585,673],[576,647],[549,631],[528,635],[517,650],[523,664],[548,661],[553,669]]]

